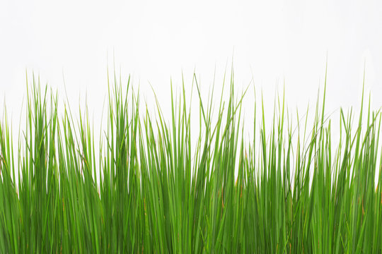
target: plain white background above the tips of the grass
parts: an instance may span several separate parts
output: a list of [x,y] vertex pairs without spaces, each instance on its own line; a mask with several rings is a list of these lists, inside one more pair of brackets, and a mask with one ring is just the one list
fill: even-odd
[[[25,111],[26,70],[29,78],[34,71],[42,85],[57,89],[60,102],[66,99],[65,79],[72,110],[78,111],[87,96],[91,117],[98,122],[114,56],[123,82],[132,74],[149,107],[151,83],[165,113],[170,113],[170,77],[176,88],[183,71],[190,89],[195,69],[207,96],[214,70],[219,91],[232,61],[237,91],[253,78],[257,101],[262,91],[272,115],[274,94],[285,82],[294,113],[296,107],[305,111],[308,102],[315,104],[328,54],[327,112],[335,112],[337,121],[339,107],[359,106],[364,63],[372,107],[382,105],[381,3],[1,1],[0,111],[5,100],[17,133]],[[245,114],[252,116],[253,102],[251,90]]]

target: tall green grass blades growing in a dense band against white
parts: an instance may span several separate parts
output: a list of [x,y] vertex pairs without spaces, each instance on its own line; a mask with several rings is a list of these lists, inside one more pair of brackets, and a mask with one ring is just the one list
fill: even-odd
[[171,87],[171,119],[158,101],[154,119],[114,77],[96,150],[87,110],[58,115],[57,94],[38,83],[27,84],[18,151],[1,121],[0,253],[382,253],[381,112],[363,94],[359,120],[340,111],[336,142],[325,91],[294,126],[277,97],[271,128],[261,107],[257,138],[243,140],[253,95],[234,95],[232,76],[216,104],[194,75],[199,119],[185,85]]

